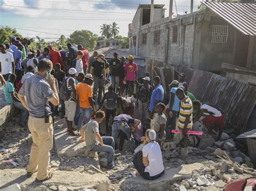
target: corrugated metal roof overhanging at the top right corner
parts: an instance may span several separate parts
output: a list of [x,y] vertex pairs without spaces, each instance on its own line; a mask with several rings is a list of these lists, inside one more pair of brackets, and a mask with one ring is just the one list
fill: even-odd
[[245,35],[256,35],[256,4],[203,2]]

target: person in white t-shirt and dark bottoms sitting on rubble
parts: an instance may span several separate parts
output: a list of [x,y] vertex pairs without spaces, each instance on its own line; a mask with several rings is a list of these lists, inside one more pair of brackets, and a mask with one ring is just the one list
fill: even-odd
[[145,137],[142,137],[143,149],[133,159],[133,165],[138,171],[136,175],[141,175],[146,180],[154,180],[164,174],[162,153],[156,136],[154,130],[146,130]]

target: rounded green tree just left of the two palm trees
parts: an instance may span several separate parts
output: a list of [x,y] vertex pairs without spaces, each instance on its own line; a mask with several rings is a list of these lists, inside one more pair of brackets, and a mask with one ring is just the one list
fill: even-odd
[[96,46],[97,35],[88,30],[75,31],[70,34],[68,41],[72,44],[82,44],[89,51]]

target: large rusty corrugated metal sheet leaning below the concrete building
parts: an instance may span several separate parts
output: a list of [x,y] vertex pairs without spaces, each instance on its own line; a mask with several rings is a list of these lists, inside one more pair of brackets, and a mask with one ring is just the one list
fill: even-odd
[[225,128],[234,128],[237,133],[246,130],[256,103],[256,88],[249,84],[228,79],[217,74],[202,70],[186,70],[193,73],[190,79],[188,91],[201,102],[215,104],[225,111]]

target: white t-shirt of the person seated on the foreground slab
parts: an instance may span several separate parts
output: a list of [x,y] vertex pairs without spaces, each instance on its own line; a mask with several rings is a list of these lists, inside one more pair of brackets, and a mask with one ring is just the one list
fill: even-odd
[[145,168],[145,172],[149,172],[150,176],[155,176],[164,171],[164,162],[162,158],[161,148],[158,143],[148,143],[142,148],[143,157],[147,157],[149,165]]

